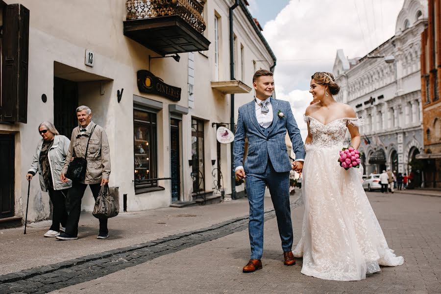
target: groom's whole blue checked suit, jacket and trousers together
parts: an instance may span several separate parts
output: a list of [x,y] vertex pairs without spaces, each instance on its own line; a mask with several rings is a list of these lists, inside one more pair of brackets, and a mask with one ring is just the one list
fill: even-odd
[[[293,245],[289,203],[291,161],[285,145],[287,131],[296,159],[305,158],[300,130],[289,102],[270,98],[270,103],[273,121],[266,129],[257,122],[255,100],[239,108],[233,146],[234,166],[244,166],[246,175],[245,186],[249,201],[248,231],[253,259],[261,259],[263,253],[265,186],[270,190],[283,251],[291,250]],[[284,113],[283,117],[277,115],[279,111]],[[248,139],[248,153],[244,165],[245,137]]]

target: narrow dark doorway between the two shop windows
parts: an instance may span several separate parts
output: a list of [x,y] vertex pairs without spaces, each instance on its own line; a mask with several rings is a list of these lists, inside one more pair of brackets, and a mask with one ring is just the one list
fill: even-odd
[[181,195],[181,156],[180,156],[180,121],[170,119],[170,152],[171,152],[171,175],[172,175],[172,201],[178,201]]

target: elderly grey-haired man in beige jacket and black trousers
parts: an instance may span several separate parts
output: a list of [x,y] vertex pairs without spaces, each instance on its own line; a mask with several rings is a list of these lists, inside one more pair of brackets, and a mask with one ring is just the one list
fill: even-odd
[[[92,111],[89,107],[84,105],[79,106],[76,109],[76,117],[79,126],[75,127],[72,131],[71,144],[61,172],[61,180],[68,180],[65,174],[72,158],[74,156],[85,156],[87,142],[90,137],[89,148],[86,155],[86,177],[83,181],[73,182],[69,192],[70,208],[66,223],[66,232],[56,237],[59,240],[78,239],[78,221],[81,214],[81,199],[84,196],[84,191],[87,185],[89,185],[96,200],[100,186],[106,185],[109,182],[110,175],[110,150],[106,132],[101,126],[92,122]],[[107,219],[99,219],[97,239],[106,239],[108,237]]]

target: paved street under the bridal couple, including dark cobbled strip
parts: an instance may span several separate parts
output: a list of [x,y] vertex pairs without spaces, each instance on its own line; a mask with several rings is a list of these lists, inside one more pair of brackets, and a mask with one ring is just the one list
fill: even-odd
[[[303,215],[301,202],[294,202],[297,197],[292,205],[294,244]],[[242,273],[249,256],[243,216],[38,268],[43,274],[34,269],[15,273],[15,278],[14,274],[3,275],[0,293],[441,293],[441,197],[397,193],[370,193],[368,197],[389,246],[404,256],[405,263],[384,267],[360,282],[302,275],[301,259],[293,267],[283,266],[277,223],[269,210],[264,267],[255,273]],[[240,205],[246,204],[240,201]],[[224,204],[211,206],[225,208]],[[25,274],[32,277],[24,278]],[[8,276],[14,281],[5,279]]]

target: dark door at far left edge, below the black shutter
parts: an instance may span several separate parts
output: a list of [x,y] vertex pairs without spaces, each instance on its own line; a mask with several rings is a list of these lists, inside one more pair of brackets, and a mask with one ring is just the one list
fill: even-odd
[[14,216],[14,135],[0,134],[0,219]]

